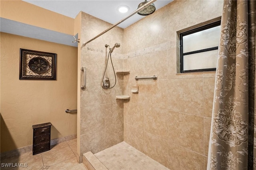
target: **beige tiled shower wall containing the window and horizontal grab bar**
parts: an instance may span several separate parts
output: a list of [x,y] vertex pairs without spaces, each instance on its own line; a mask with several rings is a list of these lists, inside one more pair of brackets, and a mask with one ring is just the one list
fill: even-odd
[[176,73],[176,31],[220,17],[222,4],[174,0],[124,29],[124,141],[172,170],[206,169],[215,80],[215,72]]

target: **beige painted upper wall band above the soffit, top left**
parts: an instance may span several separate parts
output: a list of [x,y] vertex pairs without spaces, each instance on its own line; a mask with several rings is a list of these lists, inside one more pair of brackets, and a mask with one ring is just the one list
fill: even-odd
[[22,0],[1,0],[0,17],[69,35],[74,34],[74,19]]

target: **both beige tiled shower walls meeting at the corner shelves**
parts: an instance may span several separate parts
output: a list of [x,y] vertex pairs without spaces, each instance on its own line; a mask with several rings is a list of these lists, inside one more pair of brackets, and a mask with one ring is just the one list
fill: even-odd
[[[177,74],[177,31],[221,16],[222,0],[174,0],[125,29],[115,27],[81,49],[87,68],[81,91],[80,153],[99,152],[126,141],[170,169],[201,170],[207,164],[215,72]],[[214,8],[212,8],[214,6]],[[110,26],[82,13],[81,41]],[[105,44],[121,43],[113,56],[117,75],[101,88]],[[112,82],[111,69],[106,73]],[[157,75],[157,80],[135,76]],[[132,86],[138,93],[130,92]],[[129,95],[119,101],[117,95]]]

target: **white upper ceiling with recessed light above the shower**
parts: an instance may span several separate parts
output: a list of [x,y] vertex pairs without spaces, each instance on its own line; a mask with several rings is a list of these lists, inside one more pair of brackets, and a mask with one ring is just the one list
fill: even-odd
[[[77,14],[82,11],[96,18],[115,24],[128,16],[137,9],[138,4],[144,0],[23,0],[30,4],[40,6],[47,10],[76,18]],[[172,0],[156,0],[154,5],[156,10],[162,8]],[[126,5],[129,7],[128,12],[120,13],[118,7]],[[144,16],[135,14],[126,21],[120,23],[118,27],[126,28],[132,23],[142,19]]]

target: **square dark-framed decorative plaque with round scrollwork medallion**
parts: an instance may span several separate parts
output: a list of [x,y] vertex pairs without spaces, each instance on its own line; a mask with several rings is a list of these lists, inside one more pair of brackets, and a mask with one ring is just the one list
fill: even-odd
[[56,80],[56,54],[20,49],[20,79]]

